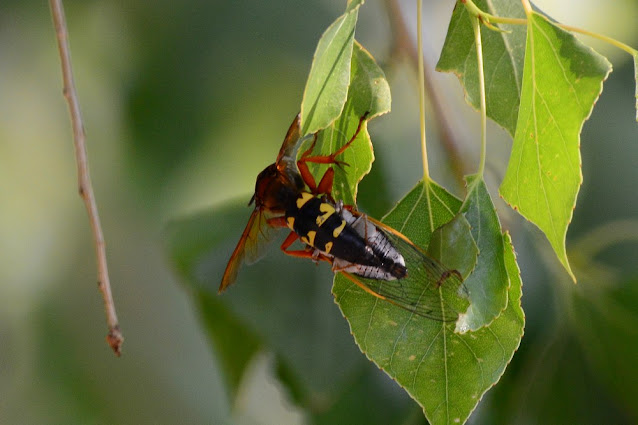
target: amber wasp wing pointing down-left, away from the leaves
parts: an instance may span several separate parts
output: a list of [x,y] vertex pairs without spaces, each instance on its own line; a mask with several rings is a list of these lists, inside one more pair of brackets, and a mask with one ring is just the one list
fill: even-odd
[[259,208],[255,208],[250,214],[246,228],[226,265],[226,271],[219,285],[220,293],[235,282],[242,263],[256,263],[266,253],[269,242],[279,230],[268,224],[268,218],[271,215],[268,211]]

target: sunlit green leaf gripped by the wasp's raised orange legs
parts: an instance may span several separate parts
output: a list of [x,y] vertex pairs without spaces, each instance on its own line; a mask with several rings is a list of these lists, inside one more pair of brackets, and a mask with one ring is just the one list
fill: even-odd
[[[319,132],[315,155],[330,155],[343,146],[355,133],[359,120],[367,112],[367,119],[385,114],[390,111],[390,86],[383,71],[374,61],[370,53],[359,43],[354,44],[352,54],[352,73],[348,99],[339,118],[325,130]],[[335,179],[332,194],[335,199],[342,200],[346,205],[355,205],[357,185],[370,172],[374,154],[372,143],[364,123],[355,141],[337,159],[347,165],[332,166]],[[302,146],[303,152],[308,146]],[[309,164],[310,170],[317,180],[327,170],[327,165]]]

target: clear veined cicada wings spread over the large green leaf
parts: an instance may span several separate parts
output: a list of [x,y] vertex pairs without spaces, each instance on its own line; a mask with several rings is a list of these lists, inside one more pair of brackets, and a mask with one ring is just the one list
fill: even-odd
[[403,255],[407,275],[377,280],[342,272],[366,292],[419,316],[443,322],[456,321],[469,306],[468,291],[456,270],[447,269],[404,235],[371,220]]

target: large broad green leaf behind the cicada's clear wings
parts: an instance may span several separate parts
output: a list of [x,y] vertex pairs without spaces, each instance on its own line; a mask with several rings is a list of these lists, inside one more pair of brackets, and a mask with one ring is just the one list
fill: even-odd
[[[449,221],[461,203],[434,183],[419,183],[385,223],[425,246],[433,228]],[[477,332],[460,335],[454,323],[415,316],[378,301],[337,275],[333,293],[362,352],[422,406],[432,424],[463,423],[503,374],[520,343],[524,316],[521,281],[508,236],[505,269],[510,302]]]

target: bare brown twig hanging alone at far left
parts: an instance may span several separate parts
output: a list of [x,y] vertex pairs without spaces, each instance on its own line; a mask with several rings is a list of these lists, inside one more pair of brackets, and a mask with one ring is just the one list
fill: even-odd
[[58,50],[60,52],[60,60],[62,62],[62,79],[64,82],[63,93],[69,104],[69,113],[71,115],[71,124],[73,126],[73,142],[75,145],[75,159],[78,167],[78,190],[84,201],[86,210],[89,215],[89,222],[93,231],[95,240],[95,255],[97,258],[98,269],[98,288],[104,299],[104,309],[106,311],[106,323],[109,333],[106,341],[109,343],[117,356],[121,354],[122,342],[124,337],[120,332],[117,322],[117,314],[115,312],[115,304],[111,295],[111,283],[109,280],[109,272],[106,264],[106,248],[104,245],[104,236],[102,234],[102,226],[100,225],[100,216],[98,215],[95,196],[93,194],[93,186],[91,185],[91,177],[89,175],[89,163],[86,155],[84,125],[82,124],[82,114],[80,112],[80,104],[78,102],[75,83],[73,82],[73,70],[71,67],[71,54],[69,49],[68,32],[66,27],[66,18],[64,17],[64,8],[62,0],[50,0],[51,15],[53,16],[53,25],[58,40]]

